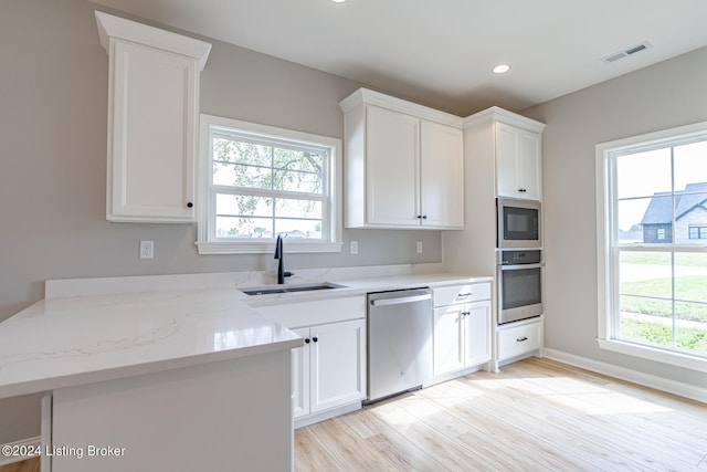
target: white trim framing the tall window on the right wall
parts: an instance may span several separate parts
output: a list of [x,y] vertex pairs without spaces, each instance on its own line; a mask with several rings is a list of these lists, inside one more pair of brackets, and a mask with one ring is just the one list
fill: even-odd
[[[614,254],[610,233],[610,220],[613,220],[615,208],[615,188],[609,181],[609,176],[615,172],[613,156],[632,151],[646,151],[665,147],[667,145],[675,146],[677,139],[686,141],[707,139],[707,122],[695,123],[692,125],[679,126],[675,128],[664,129],[655,133],[648,133],[639,136],[616,139],[595,145],[595,198],[597,198],[597,343],[601,349],[614,353],[625,354],[629,356],[640,357],[646,360],[653,360],[662,364],[677,366],[690,370],[707,373],[707,360],[689,354],[669,352],[652,346],[643,346],[612,338],[612,323],[615,317],[612,313],[618,310],[618,301],[612,300],[611,293],[618,283],[616,274],[619,272],[618,260]],[[675,248],[679,244],[637,244],[637,248],[661,250],[665,248]],[[680,250],[683,247],[680,245]],[[686,247],[685,251],[698,250],[699,248]],[[610,265],[612,262],[612,265]]]

